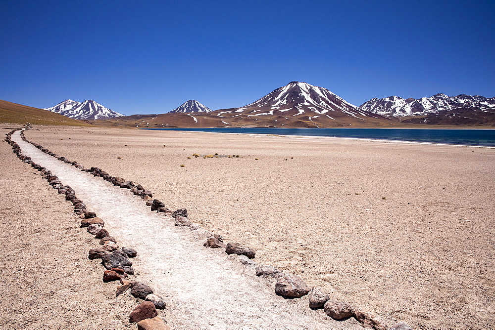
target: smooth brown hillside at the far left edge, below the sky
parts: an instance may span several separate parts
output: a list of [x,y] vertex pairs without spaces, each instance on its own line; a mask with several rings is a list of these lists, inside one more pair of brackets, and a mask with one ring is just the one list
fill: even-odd
[[0,123],[87,126],[87,123],[54,112],[0,100]]

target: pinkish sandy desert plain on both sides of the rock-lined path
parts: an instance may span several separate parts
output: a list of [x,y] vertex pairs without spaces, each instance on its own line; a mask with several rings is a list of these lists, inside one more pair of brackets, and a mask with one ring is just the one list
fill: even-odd
[[[41,125],[25,135],[142,184],[225,242],[254,248],[257,263],[390,324],[493,324],[495,149]],[[1,151],[0,325],[123,327],[129,311],[84,259],[86,233],[59,228],[76,219],[71,206],[6,142]]]

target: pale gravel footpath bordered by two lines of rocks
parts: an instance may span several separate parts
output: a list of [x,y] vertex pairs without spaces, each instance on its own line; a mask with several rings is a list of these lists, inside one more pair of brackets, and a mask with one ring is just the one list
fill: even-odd
[[354,319],[337,322],[321,310],[310,310],[307,296],[277,296],[273,283],[256,278],[251,267],[222,251],[203,248],[201,233],[175,227],[170,217],[151,212],[127,189],[44,154],[24,142],[19,132],[12,140],[24,155],[71,186],[88,209],[104,219],[120,246],[138,251],[133,267],[141,281],[167,297],[166,319],[173,327],[359,327]]

